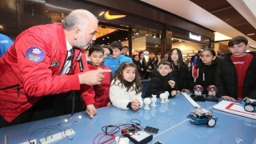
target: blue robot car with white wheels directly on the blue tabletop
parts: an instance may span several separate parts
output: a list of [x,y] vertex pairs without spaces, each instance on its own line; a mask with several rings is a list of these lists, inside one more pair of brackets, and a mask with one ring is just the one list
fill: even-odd
[[212,118],[212,116],[213,113],[210,110],[195,108],[186,118],[190,118],[190,122],[195,125],[206,124],[207,126],[213,127],[218,118]]

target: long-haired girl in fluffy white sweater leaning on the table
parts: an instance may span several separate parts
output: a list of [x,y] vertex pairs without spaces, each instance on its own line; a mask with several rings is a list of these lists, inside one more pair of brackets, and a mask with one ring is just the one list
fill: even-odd
[[137,66],[132,62],[122,62],[114,73],[110,85],[110,101],[123,110],[138,110],[142,107],[142,84]]

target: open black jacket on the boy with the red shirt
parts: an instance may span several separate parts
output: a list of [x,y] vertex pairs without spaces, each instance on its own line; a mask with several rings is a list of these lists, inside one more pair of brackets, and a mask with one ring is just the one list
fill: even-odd
[[[250,54],[253,54],[254,58],[246,70],[242,98],[248,97],[256,99],[256,54]],[[215,74],[215,83],[218,87],[217,95],[219,97],[227,95],[238,99],[238,75],[230,56],[230,53],[223,54],[219,59]]]

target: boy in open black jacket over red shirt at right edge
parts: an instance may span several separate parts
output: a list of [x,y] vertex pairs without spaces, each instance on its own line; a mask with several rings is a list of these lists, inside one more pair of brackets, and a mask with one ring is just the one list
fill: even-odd
[[215,75],[218,97],[228,100],[256,98],[256,57],[255,53],[246,54],[248,40],[237,36],[230,40],[231,53],[219,59]]

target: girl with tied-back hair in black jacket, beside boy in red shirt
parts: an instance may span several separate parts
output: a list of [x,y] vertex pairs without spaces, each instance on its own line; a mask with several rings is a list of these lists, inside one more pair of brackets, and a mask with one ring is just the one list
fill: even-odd
[[202,94],[207,94],[207,87],[215,85],[214,75],[217,66],[217,57],[214,49],[202,50],[201,58],[196,66],[191,67],[189,73],[190,90],[193,91],[195,85],[203,87]]

